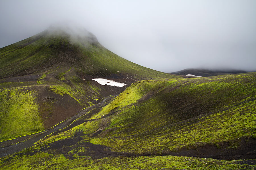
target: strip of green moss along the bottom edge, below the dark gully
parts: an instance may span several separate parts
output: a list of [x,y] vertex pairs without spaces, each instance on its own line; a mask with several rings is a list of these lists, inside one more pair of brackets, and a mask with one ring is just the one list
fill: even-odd
[[[205,158],[185,157],[185,156],[135,156],[135,157],[106,157],[101,159],[91,159],[86,156],[79,156],[84,152],[83,147],[70,151],[75,159],[69,160],[63,154],[49,154],[45,152],[36,153],[32,156],[24,155],[14,157],[5,162],[0,160],[3,169],[256,169],[256,165],[248,165],[248,161],[224,161]],[[248,163],[247,163],[248,162]]]

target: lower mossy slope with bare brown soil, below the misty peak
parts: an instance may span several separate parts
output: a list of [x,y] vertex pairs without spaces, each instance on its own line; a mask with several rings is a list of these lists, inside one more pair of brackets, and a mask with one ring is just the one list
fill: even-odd
[[[55,75],[65,70],[65,81],[59,80]],[[60,68],[38,79],[28,75],[1,80],[16,82],[0,83],[0,141],[47,129],[111,95],[104,86],[68,71]]]

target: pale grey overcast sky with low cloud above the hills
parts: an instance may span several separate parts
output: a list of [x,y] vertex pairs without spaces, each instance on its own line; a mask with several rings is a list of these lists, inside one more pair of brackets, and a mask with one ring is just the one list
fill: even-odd
[[0,48],[61,22],[158,71],[256,70],[256,0],[0,0],[0,21]]

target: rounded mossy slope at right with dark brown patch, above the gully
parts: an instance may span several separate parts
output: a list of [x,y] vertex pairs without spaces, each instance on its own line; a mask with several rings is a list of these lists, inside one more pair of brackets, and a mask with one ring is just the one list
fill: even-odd
[[[94,115],[99,118],[115,111],[105,131],[90,142],[136,154],[176,152],[223,141],[237,147],[234,141],[240,137],[255,138],[255,92],[255,73],[137,82]],[[150,93],[155,94],[138,101],[138,95]],[[122,97],[126,100],[120,101]]]

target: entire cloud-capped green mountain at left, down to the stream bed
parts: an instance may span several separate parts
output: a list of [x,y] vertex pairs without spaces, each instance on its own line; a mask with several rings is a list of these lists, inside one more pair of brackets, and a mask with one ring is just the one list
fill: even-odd
[[0,49],[0,142],[50,128],[135,81],[170,78],[181,77],[121,58],[86,30],[49,28]]

